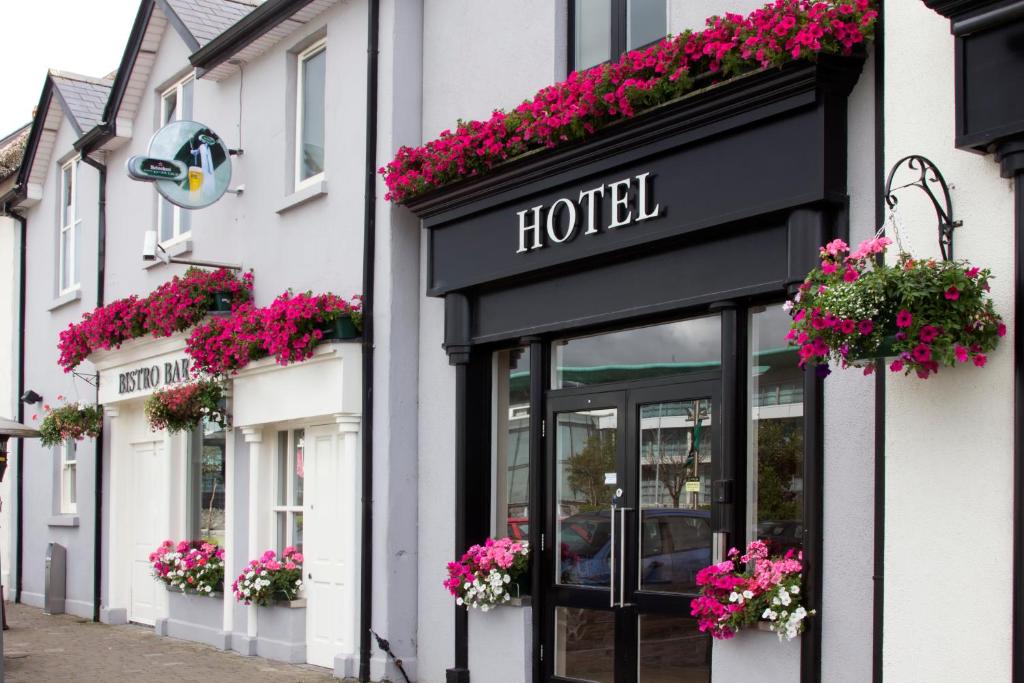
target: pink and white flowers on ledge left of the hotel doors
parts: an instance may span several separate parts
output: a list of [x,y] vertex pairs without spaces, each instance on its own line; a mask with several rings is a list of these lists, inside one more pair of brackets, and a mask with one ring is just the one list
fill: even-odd
[[487,539],[473,546],[458,562],[449,562],[444,588],[456,603],[487,611],[510,602],[512,591],[529,568],[529,543],[513,539]]

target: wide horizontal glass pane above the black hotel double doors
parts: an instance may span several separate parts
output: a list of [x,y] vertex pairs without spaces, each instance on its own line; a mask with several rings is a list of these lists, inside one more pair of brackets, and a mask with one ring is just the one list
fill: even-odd
[[721,337],[718,315],[709,315],[559,340],[552,345],[552,388],[716,370]]

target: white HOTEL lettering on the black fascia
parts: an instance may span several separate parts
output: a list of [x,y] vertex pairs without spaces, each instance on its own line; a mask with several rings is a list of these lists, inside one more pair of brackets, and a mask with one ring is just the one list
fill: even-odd
[[[552,202],[549,207],[542,204],[517,212],[519,249],[516,253],[524,254],[546,247],[545,237],[551,244],[562,244],[571,240],[578,230],[582,230],[585,236],[597,234],[600,231],[598,213],[605,190],[610,200],[610,215],[606,229],[613,230],[656,218],[660,213],[660,207],[654,203],[652,196],[648,196],[648,176],[650,171],[581,190],[578,200],[562,197]],[[651,204],[653,208],[650,207]]]

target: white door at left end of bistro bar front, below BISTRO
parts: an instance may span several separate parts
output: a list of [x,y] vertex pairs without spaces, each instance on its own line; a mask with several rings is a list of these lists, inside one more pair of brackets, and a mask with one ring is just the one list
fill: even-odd
[[164,444],[160,441],[136,443],[133,446],[131,489],[126,496],[131,519],[131,601],[128,618],[137,624],[153,625],[156,620],[157,589],[153,578],[150,553],[163,539],[160,535],[160,504],[163,500]]

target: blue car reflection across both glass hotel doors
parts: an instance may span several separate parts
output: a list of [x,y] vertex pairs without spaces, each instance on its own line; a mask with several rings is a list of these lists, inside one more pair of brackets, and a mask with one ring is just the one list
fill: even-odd
[[[697,571],[711,563],[711,513],[651,508],[642,514],[642,590],[695,590]],[[611,550],[607,510],[583,512],[562,520],[561,583],[608,585]]]

